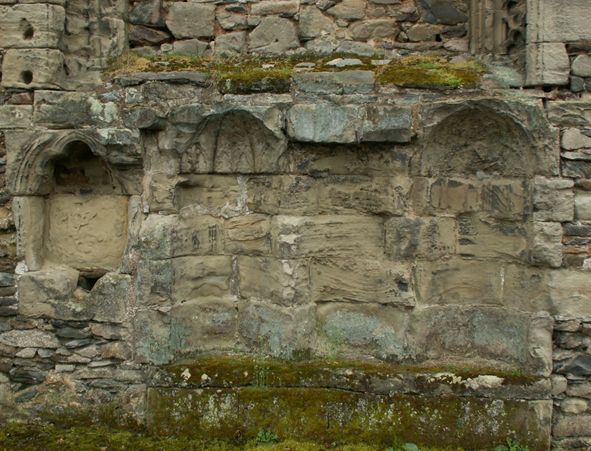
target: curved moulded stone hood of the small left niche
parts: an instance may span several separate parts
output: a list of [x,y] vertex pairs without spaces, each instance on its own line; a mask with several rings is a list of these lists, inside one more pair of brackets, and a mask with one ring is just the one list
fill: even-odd
[[53,162],[67,158],[73,143],[83,143],[104,163],[115,191],[126,191],[118,171],[108,162],[108,152],[101,144],[100,137],[94,132],[78,130],[35,138],[23,146],[10,165],[10,191],[15,196],[49,194],[53,186]]

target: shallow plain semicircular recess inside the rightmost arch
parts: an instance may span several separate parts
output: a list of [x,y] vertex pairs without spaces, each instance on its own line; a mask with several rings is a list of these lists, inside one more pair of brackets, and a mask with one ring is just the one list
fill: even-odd
[[515,118],[477,103],[427,131],[420,175],[527,177],[536,171],[535,144]]

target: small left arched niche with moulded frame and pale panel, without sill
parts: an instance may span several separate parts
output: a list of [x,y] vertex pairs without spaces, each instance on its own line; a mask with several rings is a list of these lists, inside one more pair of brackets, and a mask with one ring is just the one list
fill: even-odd
[[128,193],[96,140],[35,141],[14,163],[18,254],[29,271],[68,266],[91,278],[116,269],[127,243]]

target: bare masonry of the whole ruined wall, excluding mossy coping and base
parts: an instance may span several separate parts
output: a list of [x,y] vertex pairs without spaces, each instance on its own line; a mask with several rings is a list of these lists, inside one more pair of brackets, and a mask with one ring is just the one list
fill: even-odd
[[[451,444],[509,430],[534,449],[551,433],[588,447],[589,55],[584,33],[534,14],[551,3],[2,2],[2,414],[115,400],[157,416],[179,387],[215,386],[199,366],[162,373],[204,354],[386,362],[418,379],[296,386],[452,393],[460,411],[512,419],[474,419],[481,435]],[[223,94],[195,72],[99,79],[128,46],[395,58],[469,45],[491,62],[471,89],[371,70],[297,73],[283,94]],[[560,70],[531,62],[556,48]],[[509,89],[526,83],[554,89]]]

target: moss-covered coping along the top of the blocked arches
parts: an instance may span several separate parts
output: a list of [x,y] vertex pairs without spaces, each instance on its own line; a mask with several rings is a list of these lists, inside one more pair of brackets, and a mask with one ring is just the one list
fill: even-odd
[[[336,58],[352,58],[361,64],[335,67],[328,65]],[[180,54],[141,56],[128,52],[113,60],[107,77],[137,72],[198,71],[210,75],[224,91],[287,92],[289,81],[296,72],[335,72],[370,70],[382,85],[401,87],[454,89],[476,87],[486,72],[484,66],[473,59],[452,62],[436,54],[421,54],[381,60],[348,54],[319,56],[301,54],[283,57],[241,56],[213,57]]]

